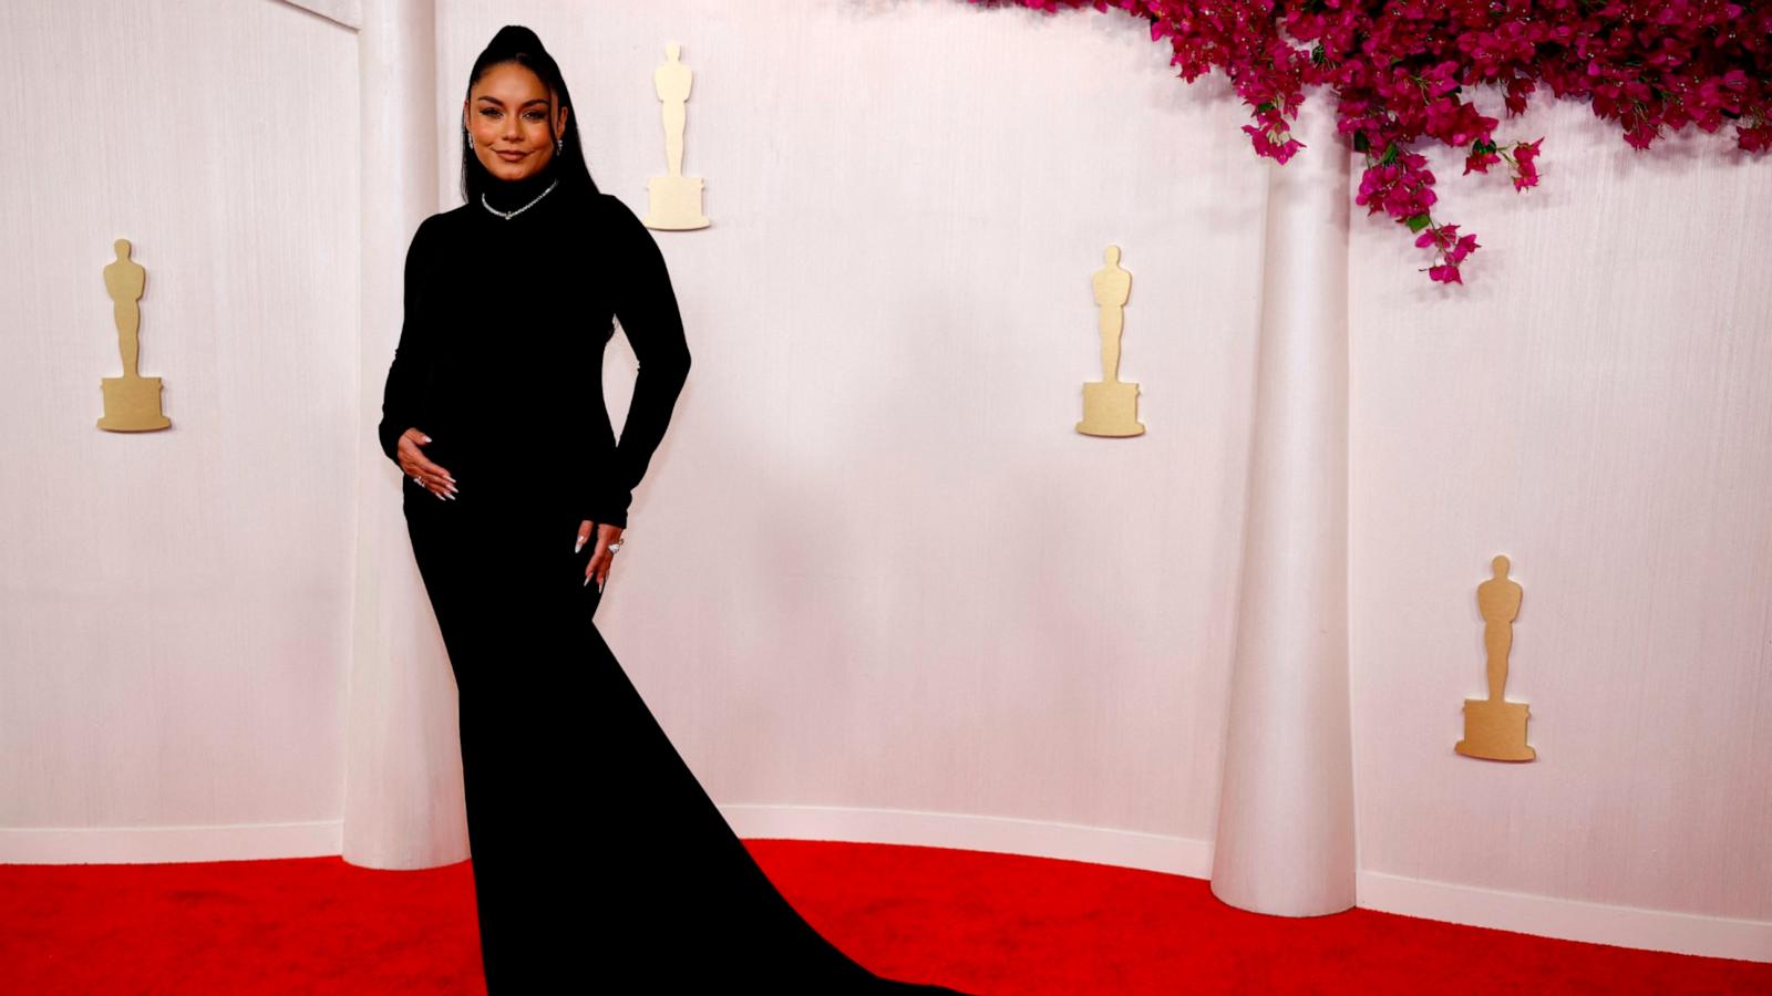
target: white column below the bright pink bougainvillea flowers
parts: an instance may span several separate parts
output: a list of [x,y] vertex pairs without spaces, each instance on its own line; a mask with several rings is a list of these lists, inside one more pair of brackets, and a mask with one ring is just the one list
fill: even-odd
[[1315,916],[1354,906],[1347,681],[1350,158],[1313,90],[1269,163],[1253,450],[1212,893]]

